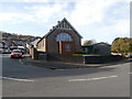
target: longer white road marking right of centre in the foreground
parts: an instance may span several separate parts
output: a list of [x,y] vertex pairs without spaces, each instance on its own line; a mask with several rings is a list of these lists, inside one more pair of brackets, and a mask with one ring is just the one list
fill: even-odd
[[99,79],[108,79],[108,78],[116,78],[116,77],[118,76],[108,76],[108,77],[88,78],[88,79],[69,79],[68,81],[99,80]]

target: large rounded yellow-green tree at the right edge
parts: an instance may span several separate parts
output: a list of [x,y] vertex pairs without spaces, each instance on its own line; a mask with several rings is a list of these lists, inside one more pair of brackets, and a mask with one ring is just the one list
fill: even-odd
[[122,54],[132,53],[132,37],[117,37],[112,42],[111,51]]

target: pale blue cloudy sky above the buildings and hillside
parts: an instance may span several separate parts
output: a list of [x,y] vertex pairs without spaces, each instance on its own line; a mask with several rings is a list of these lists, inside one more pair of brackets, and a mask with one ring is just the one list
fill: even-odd
[[66,18],[86,40],[130,36],[131,0],[0,0],[0,31],[44,36]]

